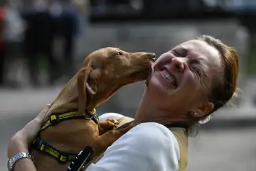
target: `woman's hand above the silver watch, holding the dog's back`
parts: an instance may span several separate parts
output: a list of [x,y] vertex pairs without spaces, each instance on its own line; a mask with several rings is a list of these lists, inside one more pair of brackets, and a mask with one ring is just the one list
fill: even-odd
[[13,157],[17,153],[28,152],[29,144],[32,144],[38,131],[42,125],[42,120],[49,111],[51,105],[47,106],[34,118],[31,120],[23,129],[18,131],[10,140],[8,144],[8,158]]

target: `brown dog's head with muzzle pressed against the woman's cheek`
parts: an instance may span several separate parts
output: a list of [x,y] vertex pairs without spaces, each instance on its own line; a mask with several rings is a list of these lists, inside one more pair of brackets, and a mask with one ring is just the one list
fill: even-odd
[[90,53],[83,65],[90,70],[86,90],[93,95],[89,104],[87,99],[88,107],[103,103],[122,86],[146,79],[154,61],[155,53],[128,53],[112,47]]

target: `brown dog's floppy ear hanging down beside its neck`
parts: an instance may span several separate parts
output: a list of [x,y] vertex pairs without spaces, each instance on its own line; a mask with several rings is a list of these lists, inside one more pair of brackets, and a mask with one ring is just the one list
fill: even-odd
[[[96,72],[97,73],[97,72]],[[84,114],[86,110],[86,90],[88,95],[94,95],[97,92],[97,77],[94,70],[90,66],[81,68],[77,73],[77,89],[78,89],[78,114]]]

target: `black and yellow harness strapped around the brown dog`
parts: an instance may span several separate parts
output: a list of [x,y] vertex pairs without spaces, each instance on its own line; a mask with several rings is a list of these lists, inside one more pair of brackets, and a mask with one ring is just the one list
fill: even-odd
[[[90,117],[88,117],[90,115]],[[64,114],[51,114],[49,120],[41,127],[40,132],[44,131],[48,127],[54,126],[55,124],[58,124],[64,120],[73,120],[73,119],[86,119],[86,120],[93,120],[98,127],[99,126],[99,118],[96,113],[96,109],[92,109],[92,111],[88,111],[87,113],[84,113],[82,116],[79,116],[77,114],[77,111],[71,111]],[[60,163],[67,163],[69,161],[75,160],[77,157],[77,154],[74,153],[66,153],[61,150],[57,150],[57,148],[54,148],[51,146],[47,141],[40,139],[38,133],[38,137],[36,137],[36,140],[33,142],[33,147],[38,150],[41,153],[45,153],[47,155],[50,155],[51,157],[54,157],[59,161]],[[91,150],[92,148],[86,148],[88,150]],[[88,151],[88,153],[92,153],[92,151]]]

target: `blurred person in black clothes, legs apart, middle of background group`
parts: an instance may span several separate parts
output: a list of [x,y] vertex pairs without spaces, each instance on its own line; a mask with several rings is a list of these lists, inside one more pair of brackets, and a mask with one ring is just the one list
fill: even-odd
[[49,1],[36,0],[27,3],[31,5],[25,5],[23,8],[23,18],[27,24],[24,43],[31,84],[40,86],[39,62],[40,55],[43,55],[48,64],[49,84],[53,85],[60,73],[53,53],[55,21],[49,13]]

